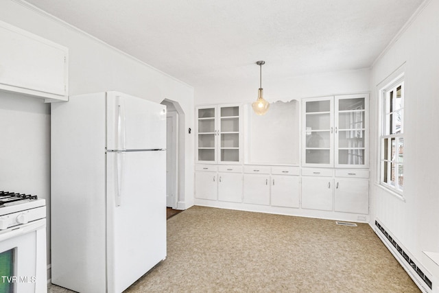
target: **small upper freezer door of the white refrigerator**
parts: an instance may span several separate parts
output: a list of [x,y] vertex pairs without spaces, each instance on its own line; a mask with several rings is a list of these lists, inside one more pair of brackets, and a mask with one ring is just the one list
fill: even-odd
[[107,92],[107,150],[166,148],[166,106]]

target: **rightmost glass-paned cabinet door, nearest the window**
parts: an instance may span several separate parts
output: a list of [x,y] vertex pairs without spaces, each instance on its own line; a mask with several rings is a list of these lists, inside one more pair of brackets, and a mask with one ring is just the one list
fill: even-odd
[[368,94],[336,95],[334,156],[335,167],[367,168]]

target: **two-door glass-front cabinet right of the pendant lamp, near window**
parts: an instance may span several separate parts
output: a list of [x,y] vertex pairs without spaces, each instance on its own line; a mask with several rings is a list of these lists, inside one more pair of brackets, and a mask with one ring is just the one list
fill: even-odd
[[368,167],[368,94],[302,100],[302,165]]

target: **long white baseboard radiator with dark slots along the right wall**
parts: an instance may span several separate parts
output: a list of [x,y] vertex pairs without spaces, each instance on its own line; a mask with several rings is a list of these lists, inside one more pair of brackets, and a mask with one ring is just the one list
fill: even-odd
[[431,293],[433,287],[431,283],[431,276],[425,268],[419,266],[419,262],[410,255],[408,250],[401,245],[387,228],[375,220],[375,233],[381,239],[383,244],[387,246],[392,255],[401,264],[404,270],[409,274],[418,288],[425,293]]

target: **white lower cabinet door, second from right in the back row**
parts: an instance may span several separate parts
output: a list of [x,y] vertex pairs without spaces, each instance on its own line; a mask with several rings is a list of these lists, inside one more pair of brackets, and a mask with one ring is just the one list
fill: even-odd
[[333,178],[302,176],[302,208],[332,211]]

